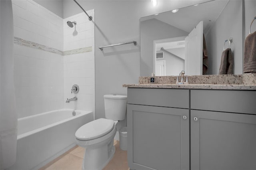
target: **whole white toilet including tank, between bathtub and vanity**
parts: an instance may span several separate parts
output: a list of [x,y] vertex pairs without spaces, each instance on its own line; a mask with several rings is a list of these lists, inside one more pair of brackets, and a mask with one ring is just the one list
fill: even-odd
[[116,151],[116,124],[126,116],[126,95],[104,95],[105,117],[86,123],[76,130],[76,143],[86,148],[83,170],[102,170]]

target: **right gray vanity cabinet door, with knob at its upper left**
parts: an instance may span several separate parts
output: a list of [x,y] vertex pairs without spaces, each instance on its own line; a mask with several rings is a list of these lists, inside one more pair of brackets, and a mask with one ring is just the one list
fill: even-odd
[[256,115],[191,110],[191,170],[256,170]]

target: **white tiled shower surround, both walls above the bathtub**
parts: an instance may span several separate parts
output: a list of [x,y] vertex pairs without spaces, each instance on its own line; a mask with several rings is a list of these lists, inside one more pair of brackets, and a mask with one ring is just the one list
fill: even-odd
[[[78,22],[85,14],[73,16],[78,32],[67,40],[65,20],[36,2],[12,0],[12,8],[18,118],[62,108],[94,111],[94,24],[89,29],[86,21]],[[74,97],[73,84],[80,86],[78,102],[66,104],[66,98]]]

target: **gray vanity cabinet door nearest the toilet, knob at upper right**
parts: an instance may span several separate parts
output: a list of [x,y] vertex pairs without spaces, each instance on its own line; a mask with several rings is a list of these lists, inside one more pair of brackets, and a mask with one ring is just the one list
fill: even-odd
[[131,169],[189,170],[188,109],[128,104],[127,125]]

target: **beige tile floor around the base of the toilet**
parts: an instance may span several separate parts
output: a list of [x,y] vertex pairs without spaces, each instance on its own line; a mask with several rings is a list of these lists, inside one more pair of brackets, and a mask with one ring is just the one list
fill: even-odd
[[[114,140],[114,146],[116,147],[114,157],[103,170],[129,170],[127,151],[120,149],[117,140]],[[75,146],[39,170],[81,170],[83,158],[84,148]]]

